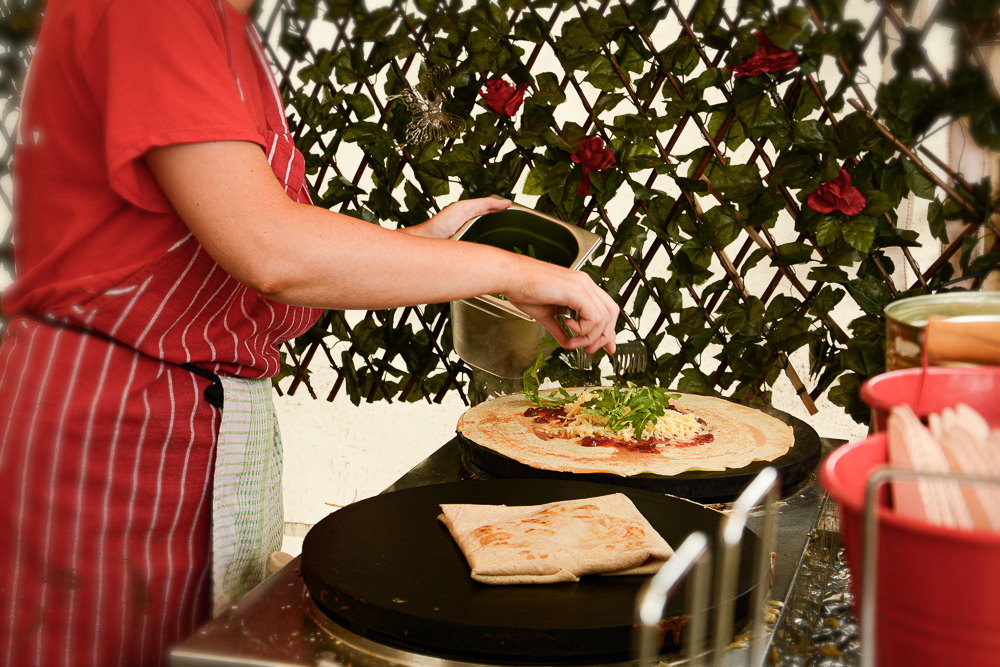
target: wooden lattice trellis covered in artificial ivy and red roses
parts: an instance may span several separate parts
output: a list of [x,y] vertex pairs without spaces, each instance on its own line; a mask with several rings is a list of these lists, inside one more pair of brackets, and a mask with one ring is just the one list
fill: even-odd
[[[265,3],[257,22],[318,204],[395,226],[459,197],[537,197],[538,210],[607,240],[586,270],[639,323],[622,336],[658,350],[642,379],[766,401],[785,375],[807,406],[828,395],[861,421],[858,385],[883,367],[884,306],[965,276],[962,286],[975,288],[997,264],[996,249],[975,252],[995,232],[992,185],[965,182],[922,140],[964,118],[977,143],[1000,148],[1000,104],[975,49],[994,36],[998,4],[937,6],[934,20],[956,35],[947,75],[921,48],[926,31],[907,27],[912,7],[884,1],[864,26],[834,0],[425,0],[377,10],[286,0]],[[23,28],[36,7],[0,17],[0,34],[15,47],[25,43],[15,24]],[[332,42],[321,25],[332,27]],[[858,66],[886,26],[900,35],[890,54],[896,75],[872,95]],[[759,51],[759,35],[773,51]],[[784,67],[789,53],[794,66]],[[8,50],[12,76],[25,54]],[[554,55],[555,71],[539,64],[544,54]],[[767,62],[782,66],[750,73]],[[443,110],[466,129],[407,143],[412,110],[393,96],[435,65],[450,71]],[[821,77],[823,65],[833,68]],[[514,113],[484,103],[481,91],[496,79],[522,92]],[[568,107],[575,112],[563,113]],[[588,173],[589,195],[579,194],[583,169],[571,157],[585,137],[614,154],[613,165]],[[681,154],[692,137],[697,148]],[[350,144],[363,152],[360,164],[338,159]],[[815,210],[810,195],[841,168],[864,207]],[[620,193],[626,212],[612,217]],[[911,193],[931,202],[929,231],[942,244],[926,267],[909,251],[916,234],[897,226]],[[950,239],[946,223],[955,221],[965,226]],[[791,237],[779,240],[778,226],[791,227]],[[894,279],[900,261],[913,284]],[[761,273],[765,286],[751,292],[747,276]],[[849,302],[862,314],[843,321]],[[797,368],[801,350],[808,367]],[[328,312],[286,346],[285,362],[281,391],[355,402],[465,398],[470,379],[442,305]],[[334,369],[332,386],[315,386],[309,369],[317,365]],[[543,372],[579,383],[599,371],[581,375],[557,356]]]

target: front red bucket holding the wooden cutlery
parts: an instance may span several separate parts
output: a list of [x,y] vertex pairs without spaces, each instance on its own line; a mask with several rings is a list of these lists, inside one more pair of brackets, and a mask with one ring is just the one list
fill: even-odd
[[[858,611],[865,488],[886,459],[885,434],[876,434],[839,447],[820,467],[840,510]],[[881,508],[878,545],[880,667],[1000,666],[1000,533],[941,528]]]

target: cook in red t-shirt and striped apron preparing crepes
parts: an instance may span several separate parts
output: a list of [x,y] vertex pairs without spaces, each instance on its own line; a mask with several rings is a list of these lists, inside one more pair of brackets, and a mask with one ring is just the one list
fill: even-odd
[[46,7],[3,295],[2,664],[159,664],[260,580],[268,378],[320,309],[502,292],[560,344],[614,349],[586,274],[447,239],[509,202],[399,231],[312,206],[250,2]]

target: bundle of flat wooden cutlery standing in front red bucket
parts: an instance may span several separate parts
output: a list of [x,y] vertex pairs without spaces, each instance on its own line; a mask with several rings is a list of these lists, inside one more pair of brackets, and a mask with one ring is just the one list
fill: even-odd
[[[892,409],[888,422],[889,463],[918,472],[976,475],[1000,480],[1000,429],[991,429],[968,407],[945,408],[924,426],[909,406]],[[896,481],[896,511],[935,525],[1000,531],[1000,483],[947,478]]]

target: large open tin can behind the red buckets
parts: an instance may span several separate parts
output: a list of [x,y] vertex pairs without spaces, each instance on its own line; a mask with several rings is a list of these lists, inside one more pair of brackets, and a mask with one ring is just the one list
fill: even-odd
[[920,365],[927,318],[996,322],[1000,326],[1000,292],[942,292],[894,301],[885,307],[886,370]]

